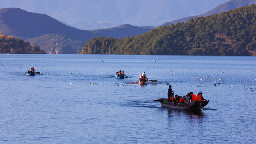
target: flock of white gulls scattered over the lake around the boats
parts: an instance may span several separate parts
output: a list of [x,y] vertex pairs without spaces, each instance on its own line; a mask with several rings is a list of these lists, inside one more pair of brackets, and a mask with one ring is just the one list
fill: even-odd
[[[159,60],[155,60],[155,62],[158,62]],[[104,60],[102,60],[102,62],[104,62]],[[155,68],[157,68],[158,66],[156,66],[155,65]],[[62,70],[63,70],[64,68],[62,68]],[[227,68],[225,68],[225,70],[227,70]],[[141,71],[140,71],[141,72]],[[172,70],[170,71],[170,72],[173,72]],[[220,74],[223,74],[224,72],[220,72]],[[60,74],[62,74],[62,73],[60,73]],[[72,73],[71,73],[72,74]],[[78,74],[79,74],[79,72],[78,72]],[[101,73],[102,74],[102,73]],[[176,73],[174,72],[173,74],[171,74],[172,76],[174,76]],[[218,76],[220,76],[220,74],[218,74]],[[113,74],[112,74],[113,75]],[[134,75],[134,74],[132,74],[132,75]],[[195,76],[194,75],[194,77],[192,77],[192,79],[197,79],[198,78],[198,76]],[[198,81],[200,82],[200,84],[202,84],[202,83],[204,83],[204,82],[208,82],[208,80],[210,80],[211,78],[209,77],[209,76],[207,76],[206,77],[206,80],[204,80],[203,81],[203,79],[204,79],[204,77],[203,78],[201,78],[201,79],[199,79]],[[219,78],[218,80],[221,80],[223,83],[224,83],[224,80],[222,79],[222,78]],[[254,81],[256,81],[256,79],[254,80]],[[80,82],[82,82],[81,80],[80,80]],[[218,86],[218,85],[220,85],[220,84],[223,84],[223,83],[220,83],[220,82],[217,82],[216,80],[214,81],[214,82],[216,82],[216,84],[213,84],[212,86]],[[240,82],[242,82],[242,80],[240,80]],[[70,84],[72,84],[72,82],[70,82]],[[90,82],[90,84],[91,85],[94,85],[95,83],[94,82]],[[164,85],[168,85],[169,83],[165,83]],[[100,84],[100,85],[102,85],[102,84]],[[126,84],[126,85],[124,85],[124,84],[119,84],[119,83],[116,83],[116,86],[119,86],[119,85],[122,85],[122,86],[133,86],[132,84]],[[246,85],[248,85],[247,83],[246,83]],[[235,85],[231,85],[231,86],[235,86]],[[136,86],[135,86],[136,87]],[[197,85],[197,87],[199,87],[199,85]],[[246,87],[246,86],[244,86],[245,88],[246,88],[246,90],[247,89],[250,89],[252,92],[253,91],[256,91],[256,89],[253,89],[253,87],[250,87],[250,86],[248,86],[248,87]]]

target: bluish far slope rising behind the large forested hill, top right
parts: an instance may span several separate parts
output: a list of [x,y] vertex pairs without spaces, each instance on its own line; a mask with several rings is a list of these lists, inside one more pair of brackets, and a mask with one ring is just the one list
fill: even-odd
[[251,5],[251,4],[256,4],[256,0],[230,0],[228,2],[220,4],[219,6],[216,6],[214,9],[212,9],[204,14],[180,18],[178,20],[173,20],[171,22],[165,22],[161,26],[177,24],[179,22],[187,22],[190,18],[199,17],[199,16],[211,16],[213,14],[219,14],[221,12],[226,12],[226,11],[232,10],[234,8],[239,8],[241,6],[246,6],[246,5]]

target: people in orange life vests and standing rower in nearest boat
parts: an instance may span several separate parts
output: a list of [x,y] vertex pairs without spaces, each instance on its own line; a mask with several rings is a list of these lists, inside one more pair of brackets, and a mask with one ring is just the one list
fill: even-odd
[[170,102],[174,102],[174,103],[181,103],[181,104],[188,104],[190,102],[193,102],[194,100],[196,101],[207,101],[206,99],[204,99],[204,97],[202,96],[202,92],[200,91],[197,96],[195,94],[193,94],[193,92],[189,92],[188,94],[183,95],[182,96],[178,96],[177,94],[174,96],[174,92],[172,90],[172,85],[169,85],[169,89],[167,92],[168,95],[168,101]]

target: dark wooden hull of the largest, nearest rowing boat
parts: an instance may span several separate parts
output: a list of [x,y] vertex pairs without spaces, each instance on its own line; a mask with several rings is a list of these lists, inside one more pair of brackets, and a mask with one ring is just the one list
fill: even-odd
[[169,108],[172,110],[201,110],[202,107],[206,106],[209,103],[209,100],[207,101],[196,101],[194,100],[193,102],[190,102],[188,104],[180,104],[174,102],[169,102],[167,98],[158,98],[158,101],[161,103],[161,106],[163,108]]

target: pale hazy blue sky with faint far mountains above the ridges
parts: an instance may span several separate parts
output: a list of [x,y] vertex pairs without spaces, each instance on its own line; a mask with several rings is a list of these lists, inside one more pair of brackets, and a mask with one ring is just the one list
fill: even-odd
[[0,0],[0,8],[17,7],[47,14],[84,30],[121,24],[159,26],[205,13],[229,0]]

